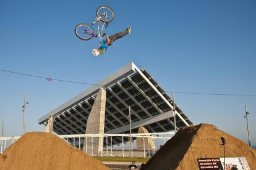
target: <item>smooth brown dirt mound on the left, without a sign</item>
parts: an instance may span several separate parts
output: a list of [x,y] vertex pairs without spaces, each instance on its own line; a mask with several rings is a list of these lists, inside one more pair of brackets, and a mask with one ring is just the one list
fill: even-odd
[[28,132],[0,156],[0,169],[109,169],[53,134]]

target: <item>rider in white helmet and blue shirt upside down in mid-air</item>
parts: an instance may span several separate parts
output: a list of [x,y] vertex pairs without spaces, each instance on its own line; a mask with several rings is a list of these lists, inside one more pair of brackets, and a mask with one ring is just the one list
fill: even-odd
[[122,38],[122,37],[126,36],[127,34],[130,34],[131,29],[132,29],[132,27],[128,26],[126,30],[124,30],[120,33],[113,34],[109,37],[104,33],[103,36],[105,36],[106,39],[103,39],[103,41],[101,42],[101,46],[99,48],[92,50],[92,54],[94,56],[104,54],[106,52],[106,50],[108,49],[108,46],[111,46],[113,44],[113,42],[116,41],[116,39]]

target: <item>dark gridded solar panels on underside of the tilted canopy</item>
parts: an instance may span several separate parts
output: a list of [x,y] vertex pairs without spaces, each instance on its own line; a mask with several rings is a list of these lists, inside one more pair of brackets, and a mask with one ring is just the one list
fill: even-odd
[[[143,75],[142,75],[143,74]],[[150,83],[149,83],[150,81]],[[141,121],[151,116],[160,115],[172,110],[173,100],[161,89],[158,83],[146,70],[135,71],[111,86],[105,87],[106,91],[106,113],[105,132],[129,124],[129,106],[132,123]],[[162,96],[161,96],[161,95]],[[88,115],[95,102],[97,92],[82,102],[71,105],[62,113],[54,116],[53,131],[59,135],[85,134]],[[163,99],[166,99],[164,100]],[[169,103],[166,103],[169,102]],[[172,107],[170,107],[170,104]],[[192,122],[176,105],[176,126],[178,128],[192,125]],[[47,124],[47,119],[42,122]],[[168,132],[174,130],[174,117],[147,124],[148,132]],[[137,133],[139,128],[132,129]],[[129,129],[119,133],[129,133]],[[115,144],[121,143],[121,139],[113,139]],[[128,140],[128,139],[125,139]]]

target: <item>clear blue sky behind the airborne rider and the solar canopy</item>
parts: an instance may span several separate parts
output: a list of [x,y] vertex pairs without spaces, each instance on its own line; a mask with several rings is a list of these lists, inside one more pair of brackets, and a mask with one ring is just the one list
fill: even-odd
[[[98,6],[116,14],[106,34],[132,26],[100,57],[98,39],[82,41],[78,23]],[[147,69],[166,91],[256,94],[256,1],[0,1],[0,69],[97,83],[129,62]],[[96,27],[93,27],[96,30]],[[43,131],[38,118],[90,86],[48,82],[0,71],[0,121],[6,136]],[[171,94],[169,94],[171,96]],[[176,94],[193,123],[210,123],[247,141],[244,105],[256,145],[256,96]]]

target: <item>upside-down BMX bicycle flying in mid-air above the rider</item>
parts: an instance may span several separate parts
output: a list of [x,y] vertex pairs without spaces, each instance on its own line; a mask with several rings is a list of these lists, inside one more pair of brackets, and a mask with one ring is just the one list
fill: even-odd
[[[87,23],[79,23],[77,26],[75,26],[75,35],[84,41],[90,40],[93,37],[95,38],[103,38],[102,31],[105,26],[107,28],[108,23],[113,21],[114,19],[114,11],[111,9],[111,7],[108,6],[100,6],[96,10],[96,18],[95,22],[92,23],[94,25],[97,23],[97,29],[98,34],[94,33],[94,30],[92,26],[88,25]],[[101,29],[100,29],[100,23],[102,23]]]

